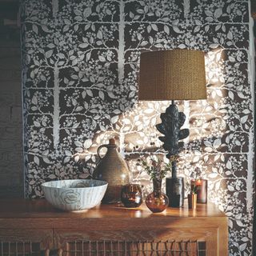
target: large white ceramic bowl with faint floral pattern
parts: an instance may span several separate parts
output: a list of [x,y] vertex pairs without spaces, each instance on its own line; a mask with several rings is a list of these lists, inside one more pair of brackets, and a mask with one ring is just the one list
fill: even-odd
[[106,193],[107,182],[69,179],[42,183],[46,200],[58,209],[85,210],[97,206]]

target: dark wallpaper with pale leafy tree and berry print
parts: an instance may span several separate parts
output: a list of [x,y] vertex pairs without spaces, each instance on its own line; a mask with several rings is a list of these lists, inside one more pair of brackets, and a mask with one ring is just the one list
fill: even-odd
[[178,162],[209,180],[229,217],[230,255],[250,255],[253,102],[248,1],[22,1],[26,196],[41,183],[87,178],[97,147],[116,138],[133,182],[150,191],[139,157],[164,155],[155,125],[170,102],[138,102],[138,63],[148,50],[206,52],[208,98],[177,102],[190,138]]

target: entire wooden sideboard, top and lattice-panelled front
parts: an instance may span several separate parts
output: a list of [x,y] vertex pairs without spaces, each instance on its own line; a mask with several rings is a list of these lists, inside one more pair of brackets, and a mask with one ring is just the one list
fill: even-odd
[[101,205],[63,212],[43,199],[0,200],[0,255],[227,256],[227,218],[197,210]]

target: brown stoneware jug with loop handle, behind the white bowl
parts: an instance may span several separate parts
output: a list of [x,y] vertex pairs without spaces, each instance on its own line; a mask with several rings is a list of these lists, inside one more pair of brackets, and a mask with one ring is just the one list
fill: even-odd
[[[107,151],[102,158],[100,150],[104,147]],[[109,184],[102,202],[121,202],[121,189],[123,185],[130,182],[130,175],[126,161],[118,153],[114,138],[110,138],[109,144],[99,146],[97,154],[99,162],[94,170],[93,178],[106,181]]]

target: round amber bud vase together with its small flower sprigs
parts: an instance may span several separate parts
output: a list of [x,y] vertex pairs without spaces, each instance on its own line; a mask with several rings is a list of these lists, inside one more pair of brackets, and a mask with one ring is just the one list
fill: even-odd
[[162,193],[162,178],[170,170],[171,165],[158,159],[156,156],[150,156],[147,161],[138,160],[138,165],[142,166],[146,173],[150,175],[150,180],[153,182],[153,192],[146,196],[146,206],[153,213],[160,213],[166,210],[169,205],[169,198]]

